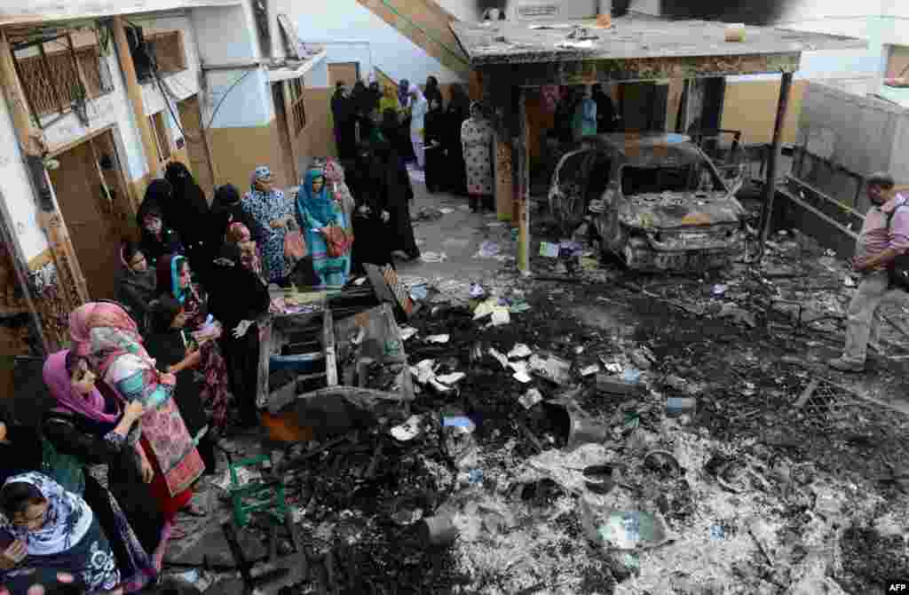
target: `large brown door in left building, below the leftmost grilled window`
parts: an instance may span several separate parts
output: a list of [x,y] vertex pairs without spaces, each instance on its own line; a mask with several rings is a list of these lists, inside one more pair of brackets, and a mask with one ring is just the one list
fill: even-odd
[[134,226],[113,132],[105,130],[55,159],[60,165],[48,173],[88,294],[115,298],[120,243]]

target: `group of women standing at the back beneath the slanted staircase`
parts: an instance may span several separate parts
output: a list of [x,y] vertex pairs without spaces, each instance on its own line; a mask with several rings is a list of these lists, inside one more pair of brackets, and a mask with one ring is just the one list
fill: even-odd
[[435,76],[422,90],[406,79],[384,89],[358,81],[350,92],[338,82],[332,115],[343,161],[355,161],[364,144],[383,142],[424,172],[430,194],[467,196],[474,211],[493,210],[493,127],[464,86],[452,85],[446,102]]

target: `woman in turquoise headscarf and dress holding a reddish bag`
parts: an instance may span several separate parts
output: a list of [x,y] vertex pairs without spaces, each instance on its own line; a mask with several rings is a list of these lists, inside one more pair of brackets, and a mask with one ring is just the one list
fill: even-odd
[[353,232],[340,197],[325,184],[322,169],[306,173],[297,193],[296,218],[313,268],[325,287],[343,287],[350,275]]

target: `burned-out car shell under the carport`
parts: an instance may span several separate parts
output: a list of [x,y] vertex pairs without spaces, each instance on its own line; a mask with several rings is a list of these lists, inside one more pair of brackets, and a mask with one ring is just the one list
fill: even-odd
[[742,253],[737,185],[689,136],[588,136],[555,167],[549,204],[564,231],[584,220],[604,251],[641,271],[726,266]]

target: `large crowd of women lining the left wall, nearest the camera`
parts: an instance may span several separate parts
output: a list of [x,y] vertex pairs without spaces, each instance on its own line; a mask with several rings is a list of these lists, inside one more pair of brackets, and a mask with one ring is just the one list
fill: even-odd
[[[384,173],[373,165],[367,176]],[[223,439],[259,423],[268,286],[345,285],[355,214],[409,229],[413,192],[400,173],[355,200],[343,167],[318,160],[294,199],[260,166],[243,196],[217,187],[209,205],[185,166],[167,166],[139,208],[139,241],[121,247],[115,299],[76,309],[71,347],[45,362],[53,407],[37,428],[0,415],[10,455],[0,463],[0,593],[135,592],[157,580],[168,542],[182,537],[177,515],[205,514],[194,491],[229,448]],[[356,225],[368,242],[368,225]],[[391,260],[364,250],[357,266]]]

